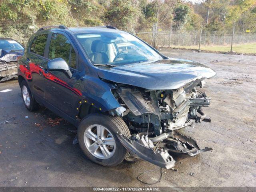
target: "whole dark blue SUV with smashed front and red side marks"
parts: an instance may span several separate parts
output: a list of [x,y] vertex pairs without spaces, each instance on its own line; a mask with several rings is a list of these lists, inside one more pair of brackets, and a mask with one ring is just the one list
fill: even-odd
[[174,153],[211,150],[178,132],[210,122],[202,110],[210,98],[198,90],[216,74],[207,66],[168,58],[112,26],[40,28],[18,64],[26,108],[40,104],[74,124],[74,142],[98,164],[141,158],[169,169]]

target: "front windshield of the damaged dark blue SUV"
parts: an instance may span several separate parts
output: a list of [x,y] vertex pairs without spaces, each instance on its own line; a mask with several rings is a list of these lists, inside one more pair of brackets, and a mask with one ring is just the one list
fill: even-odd
[[92,64],[122,66],[162,59],[150,46],[126,32],[84,33],[76,37]]

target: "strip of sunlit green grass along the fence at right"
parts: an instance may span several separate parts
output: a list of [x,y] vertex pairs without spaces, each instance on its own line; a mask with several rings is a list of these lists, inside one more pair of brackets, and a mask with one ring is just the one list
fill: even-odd
[[[172,47],[185,48],[185,49],[198,49],[198,46],[172,46]],[[230,46],[201,46],[200,49],[206,50],[206,51],[229,52]],[[256,54],[256,43],[233,45],[233,51],[237,53]]]

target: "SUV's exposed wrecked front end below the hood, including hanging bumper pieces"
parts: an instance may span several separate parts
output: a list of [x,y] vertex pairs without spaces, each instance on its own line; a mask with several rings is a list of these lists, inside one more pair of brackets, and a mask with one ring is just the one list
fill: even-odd
[[162,168],[174,167],[171,154],[195,156],[201,152],[196,141],[178,132],[194,122],[211,122],[202,108],[210,105],[210,98],[199,91],[204,81],[196,80],[176,90],[146,90],[124,84],[115,85],[113,94],[121,107],[122,116],[131,132],[118,138],[133,155]]

